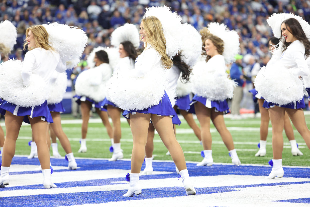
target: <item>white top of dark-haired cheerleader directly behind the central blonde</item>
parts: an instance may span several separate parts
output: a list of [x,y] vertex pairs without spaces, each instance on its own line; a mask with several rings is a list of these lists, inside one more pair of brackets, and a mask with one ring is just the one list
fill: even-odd
[[175,101],[173,101],[173,99],[176,96],[175,91],[178,85],[178,79],[179,79],[180,73],[181,71],[175,65],[173,65],[170,69],[167,69],[165,73],[166,79],[168,80],[166,92],[168,94],[168,97],[172,105],[175,105]]

